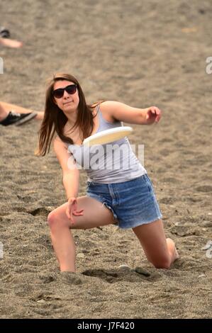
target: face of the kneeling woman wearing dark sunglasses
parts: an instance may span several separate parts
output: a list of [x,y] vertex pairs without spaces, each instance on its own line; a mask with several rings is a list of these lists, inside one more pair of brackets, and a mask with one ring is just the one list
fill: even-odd
[[[65,89],[67,86],[74,85],[74,82],[62,80],[62,81],[56,81],[54,84],[53,90],[56,89]],[[79,94],[78,90],[74,89],[73,86],[70,87],[70,89],[67,89],[63,91],[63,96],[58,98],[54,97],[55,103],[57,106],[65,113],[69,114],[74,111],[77,111],[78,105],[79,105]],[[76,90],[76,91],[75,91]],[[62,91],[60,91],[62,93]]]

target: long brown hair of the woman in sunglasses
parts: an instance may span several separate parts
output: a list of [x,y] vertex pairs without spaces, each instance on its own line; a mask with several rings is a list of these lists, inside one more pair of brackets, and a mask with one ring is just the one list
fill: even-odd
[[77,91],[79,94],[79,105],[77,112],[77,120],[74,124],[74,128],[78,127],[80,132],[82,132],[83,140],[91,135],[94,129],[94,115],[92,114],[92,108],[96,106],[87,105],[79,82],[75,77],[70,74],[57,73],[54,75],[53,79],[50,79],[48,83],[48,88],[45,94],[45,111],[43,122],[39,130],[39,145],[38,152],[36,154],[44,156],[46,152],[50,151],[50,145],[52,143],[55,133],[60,137],[63,142],[73,144],[73,140],[70,137],[64,135],[64,127],[67,123],[67,116],[60,110],[60,108],[55,104],[54,96],[52,91],[54,89],[55,82],[57,81],[71,81],[77,85]]

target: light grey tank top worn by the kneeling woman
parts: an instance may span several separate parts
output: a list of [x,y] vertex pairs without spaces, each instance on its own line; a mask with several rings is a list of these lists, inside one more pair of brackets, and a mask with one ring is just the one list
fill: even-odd
[[[97,132],[122,126],[120,121],[111,123],[105,120],[100,106],[97,108],[97,116],[99,116]],[[95,183],[122,183],[147,173],[135,156],[127,137],[110,144],[91,147],[68,145],[68,152],[72,153],[78,169],[87,171],[88,181]]]

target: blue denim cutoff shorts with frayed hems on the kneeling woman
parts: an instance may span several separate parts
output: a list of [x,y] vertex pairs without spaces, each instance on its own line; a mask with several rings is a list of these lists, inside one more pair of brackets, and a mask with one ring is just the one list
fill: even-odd
[[155,192],[147,174],[116,184],[88,181],[87,196],[100,201],[123,229],[138,227],[162,218]]

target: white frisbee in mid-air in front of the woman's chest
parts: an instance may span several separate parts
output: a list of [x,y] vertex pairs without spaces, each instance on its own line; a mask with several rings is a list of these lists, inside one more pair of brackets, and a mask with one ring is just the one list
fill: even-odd
[[132,131],[133,128],[130,128],[130,126],[102,130],[99,133],[87,137],[82,143],[85,146],[104,145],[105,143],[123,139],[123,137],[130,134]]

